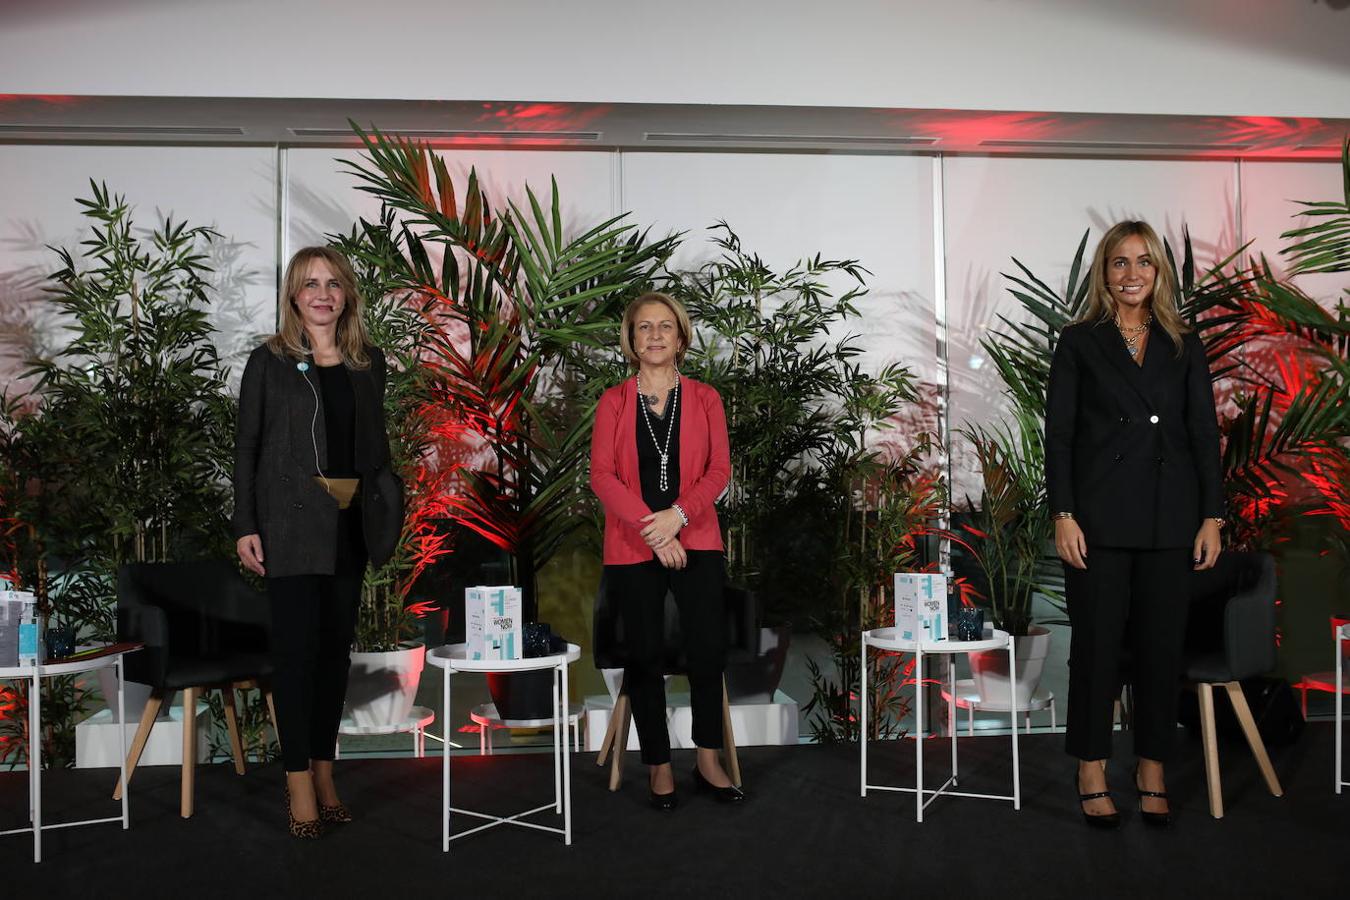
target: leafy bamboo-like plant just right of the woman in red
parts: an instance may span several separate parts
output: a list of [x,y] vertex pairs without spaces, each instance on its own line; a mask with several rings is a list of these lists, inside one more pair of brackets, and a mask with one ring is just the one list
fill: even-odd
[[[718,518],[728,569],[759,594],[770,622],[809,621],[829,590],[829,536],[845,514],[822,498],[842,498],[848,474],[878,461],[868,432],[917,399],[913,376],[903,366],[864,371],[856,335],[834,336],[861,314],[868,273],[857,260],[817,254],[775,270],[726,223],[711,231],[721,255],[672,274],[667,289],[697,322],[684,371],[726,407],[732,483]],[[846,287],[836,293],[838,281]],[[818,521],[826,510],[833,518]]]

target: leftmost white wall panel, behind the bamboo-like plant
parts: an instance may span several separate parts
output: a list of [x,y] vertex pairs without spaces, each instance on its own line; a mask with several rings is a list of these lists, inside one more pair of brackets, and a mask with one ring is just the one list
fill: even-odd
[[86,220],[76,197],[89,179],[107,182],[135,206],[144,231],[162,217],[211,225],[212,320],[219,349],[231,366],[270,332],[275,306],[275,152],[246,147],[0,146],[0,378],[7,382],[38,341],[50,349],[62,335],[51,327],[42,283],[58,267],[47,244],[78,255]]

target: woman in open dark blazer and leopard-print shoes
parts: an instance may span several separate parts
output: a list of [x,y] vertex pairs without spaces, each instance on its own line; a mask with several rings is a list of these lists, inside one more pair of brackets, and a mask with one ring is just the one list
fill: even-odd
[[333,785],[367,560],[389,560],[402,495],[389,471],[385,356],[351,264],[306,247],[286,267],[281,329],[244,367],[235,437],[239,559],[266,578],[273,696],[290,833],[351,822]]

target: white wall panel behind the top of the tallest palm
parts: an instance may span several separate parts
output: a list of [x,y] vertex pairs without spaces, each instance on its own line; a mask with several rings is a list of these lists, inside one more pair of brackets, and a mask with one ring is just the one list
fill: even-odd
[[[456,150],[443,151],[463,204],[470,169],[494,205],[525,202],[525,185],[548,204],[549,178],[558,179],[563,221],[572,228],[598,225],[614,215],[612,152]],[[344,161],[359,161],[356,150],[290,148],[286,151],[286,252],[324,243],[324,235],[347,232],[358,217],[375,219],[379,202],[358,190],[360,184]],[[528,209],[528,206],[522,206]]]

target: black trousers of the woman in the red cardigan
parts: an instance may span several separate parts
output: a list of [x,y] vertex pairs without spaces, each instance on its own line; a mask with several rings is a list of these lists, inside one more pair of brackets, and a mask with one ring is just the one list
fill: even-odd
[[726,614],[721,551],[687,551],[688,565],[668,569],[659,560],[606,565],[606,590],[616,598],[624,625],[628,665],[624,691],[633,708],[643,762],[671,761],[666,730],[666,680],[674,660],[666,654],[666,592],[675,595],[693,706],[697,746],[722,746],[722,671],[726,668]]

